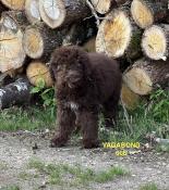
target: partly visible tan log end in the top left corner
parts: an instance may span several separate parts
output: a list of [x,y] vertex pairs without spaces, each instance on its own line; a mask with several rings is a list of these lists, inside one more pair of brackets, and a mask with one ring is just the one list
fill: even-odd
[[24,10],[25,0],[1,0],[1,2],[11,10]]

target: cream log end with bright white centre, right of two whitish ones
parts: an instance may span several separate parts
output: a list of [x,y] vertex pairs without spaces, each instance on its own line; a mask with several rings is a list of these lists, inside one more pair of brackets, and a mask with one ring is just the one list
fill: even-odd
[[60,26],[67,14],[62,0],[39,0],[39,11],[43,21],[51,28]]

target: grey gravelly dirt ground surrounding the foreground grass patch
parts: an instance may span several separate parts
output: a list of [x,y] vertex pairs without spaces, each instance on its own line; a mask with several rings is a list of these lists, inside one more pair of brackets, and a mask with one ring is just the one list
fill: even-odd
[[[38,149],[33,150],[37,143]],[[25,180],[19,174],[26,170],[28,161],[36,157],[46,163],[81,164],[95,170],[113,165],[128,168],[130,176],[116,178],[106,183],[90,183],[92,190],[138,190],[141,185],[155,182],[161,190],[169,190],[169,155],[156,152],[142,152],[124,157],[116,156],[114,150],[102,148],[84,150],[80,145],[53,149],[49,137],[37,134],[0,132],[0,188],[17,185],[23,190],[58,190],[64,188],[44,185],[45,176]],[[71,188],[69,188],[71,189]],[[81,189],[73,188],[72,189]]]

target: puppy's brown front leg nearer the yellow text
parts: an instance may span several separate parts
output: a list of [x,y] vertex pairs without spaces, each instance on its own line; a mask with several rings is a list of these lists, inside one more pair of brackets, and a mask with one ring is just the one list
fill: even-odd
[[92,111],[83,111],[80,114],[80,123],[83,134],[83,145],[86,149],[98,147],[98,114]]

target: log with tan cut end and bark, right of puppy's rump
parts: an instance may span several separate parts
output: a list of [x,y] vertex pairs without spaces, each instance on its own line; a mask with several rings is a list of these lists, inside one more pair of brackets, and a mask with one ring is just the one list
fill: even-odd
[[169,84],[169,61],[141,59],[124,72],[123,80],[133,92],[149,94],[156,87]]

